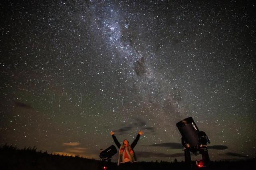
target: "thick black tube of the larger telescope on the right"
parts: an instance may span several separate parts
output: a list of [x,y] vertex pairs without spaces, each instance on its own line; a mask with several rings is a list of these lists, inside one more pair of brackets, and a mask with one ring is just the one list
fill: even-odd
[[192,117],[188,117],[176,123],[187,147],[196,147],[199,144],[198,133],[200,132]]

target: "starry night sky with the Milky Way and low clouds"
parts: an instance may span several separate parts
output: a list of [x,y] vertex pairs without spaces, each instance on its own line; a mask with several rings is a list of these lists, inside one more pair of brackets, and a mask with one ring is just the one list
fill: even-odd
[[130,143],[142,130],[139,161],[184,160],[175,124],[192,116],[211,160],[255,158],[255,11],[254,0],[1,2],[0,144],[98,159],[111,130]]

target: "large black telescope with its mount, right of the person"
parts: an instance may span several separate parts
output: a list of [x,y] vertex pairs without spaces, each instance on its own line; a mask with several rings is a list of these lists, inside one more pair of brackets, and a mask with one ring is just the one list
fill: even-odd
[[183,145],[185,162],[188,169],[191,170],[192,168],[190,152],[194,155],[202,154],[202,159],[196,160],[198,168],[208,168],[210,158],[208,155],[207,143],[210,143],[210,140],[206,133],[199,131],[192,117],[179,121],[176,123],[176,126],[182,136],[181,143]]

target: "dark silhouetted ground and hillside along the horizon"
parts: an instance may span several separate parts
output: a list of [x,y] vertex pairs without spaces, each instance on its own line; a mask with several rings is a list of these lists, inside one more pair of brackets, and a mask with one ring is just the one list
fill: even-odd
[[[36,151],[34,148],[18,149],[4,145],[0,148],[0,170],[125,170],[113,162],[102,162],[79,156],[62,156]],[[209,170],[252,170],[255,160],[211,162]],[[137,162],[130,170],[186,170],[185,162]],[[194,169],[196,169],[194,167]]]

